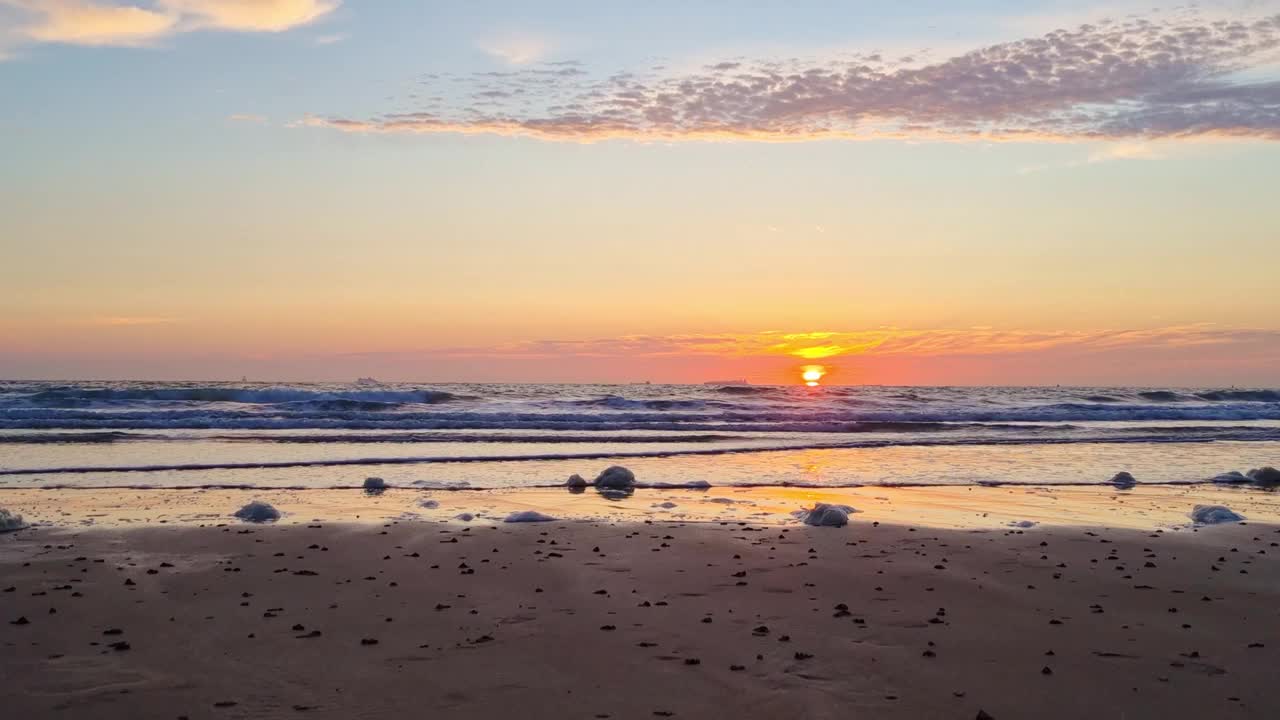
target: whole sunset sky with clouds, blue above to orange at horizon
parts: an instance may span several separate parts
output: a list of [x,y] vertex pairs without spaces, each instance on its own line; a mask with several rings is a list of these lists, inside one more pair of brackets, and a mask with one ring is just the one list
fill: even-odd
[[0,378],[1280,386],[1280,1],[0,0]]

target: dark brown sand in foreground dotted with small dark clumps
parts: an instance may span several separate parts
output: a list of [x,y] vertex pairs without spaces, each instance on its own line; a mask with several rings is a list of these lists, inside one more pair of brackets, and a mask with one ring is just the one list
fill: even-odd
[[1274,717],[1280,527],[1251,520],[37,527],[0,536],[0,707]]

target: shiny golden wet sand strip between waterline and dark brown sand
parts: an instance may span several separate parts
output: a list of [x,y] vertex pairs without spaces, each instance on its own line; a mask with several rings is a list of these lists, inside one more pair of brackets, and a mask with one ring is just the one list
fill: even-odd
[[[236,523],[251,500],[283,514],[282,523],[453,523],[463,512],[483,527],[536,510],[563,520],[712,521],[796,525],[792,512],[815,502],[851,505],[854,525],[873,523],[1014,530],[1034,525],[1185,529],[1196,505],[1226,505],[1252,523],[1280,524],[1280,493],[1220,486],[1110,487],[861,487],[636,489],[605,496],[594,488],[518,491],[361,489],[0,489],[0,507],[32,523],[64,527]],[[424,502],[434,501],[434,506]],[[1032,525],[1032,527],[1034,527]],[[818,530],[822,532],[822,530]]]

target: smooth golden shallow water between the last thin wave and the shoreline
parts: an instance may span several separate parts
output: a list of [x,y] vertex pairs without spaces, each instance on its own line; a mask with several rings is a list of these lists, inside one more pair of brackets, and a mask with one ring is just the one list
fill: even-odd
[[[111,452],[131,452],[123,445]],[[268,447],[268,450],[273,450]],[[101,452],[101,451],[100,451]],[[166,451],[168,452],[168,451]],[[284,452],[296,452],[285,446]],[[403,450],[399,450],[403,454]],[[172,459],[169,454],[169,459]],[[247,457],[246,457],[247,459]],[[259,460],[268,460],[260,457]],[[0,475],[0,487],[67,486],[255,486],[352,487],[376,475],[392,486],[419,488],[531,487],[563,483],[571,474],[594,478],[622,464],[640,483],[708,482],[716,487],[754,484],[975,484],[1105,483],[1120,470],[1139,483],[1193,482],[1228,470],[1276,465],[1280,443],[1116,443],[1036,446],[904,446],[879,448],[795,450],[671,457],[590,460],[431,462],[403,465],[161,470],[146,473],[67,473]],[[136,457],[111,459],[134,461]],[[104,459],[99,459],[104,462]]]

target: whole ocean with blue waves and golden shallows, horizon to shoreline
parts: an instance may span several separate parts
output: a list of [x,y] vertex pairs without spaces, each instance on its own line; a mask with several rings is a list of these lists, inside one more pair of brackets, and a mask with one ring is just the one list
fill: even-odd
[[1280,389],[0,382],[0,488],[1197,483]]

